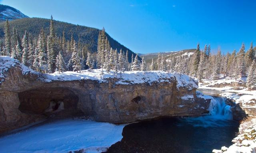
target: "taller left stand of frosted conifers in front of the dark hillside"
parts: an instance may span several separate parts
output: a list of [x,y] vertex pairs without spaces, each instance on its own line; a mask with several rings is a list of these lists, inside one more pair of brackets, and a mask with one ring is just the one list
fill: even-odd
[[[6,20],[4,28],[4,43],[0,42],[0,55],[10,56],[19,60],[25,66],[42,73],[65,71],[106,69],[107,72],[140,70],[138,56],[129,63],[128,51],[112,49],[103,28],[98,36],[97,52],[90,52],[86,45],[76,42],[71,36],[66,40],[65,33],[57,36],[54,30],[54,20],[51,16],[50,34],[45,35],[41,29],[38,38],[32,38],[26,30],[20,38],[18,30],[10,30]],[[134,55],[132,55],[134,56]],[[136,64],[136,66],[133,66]]]

